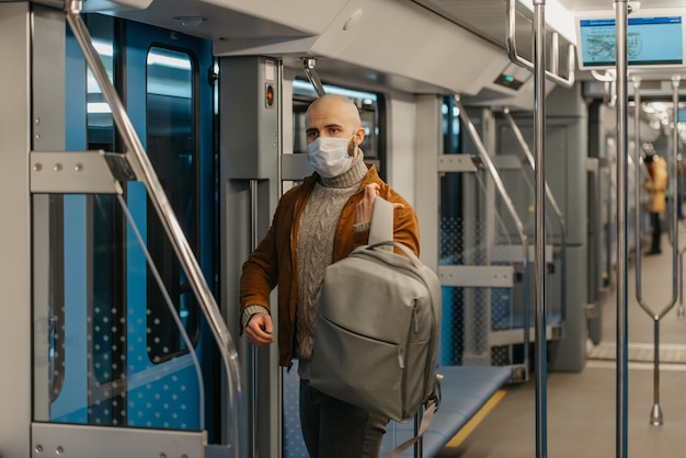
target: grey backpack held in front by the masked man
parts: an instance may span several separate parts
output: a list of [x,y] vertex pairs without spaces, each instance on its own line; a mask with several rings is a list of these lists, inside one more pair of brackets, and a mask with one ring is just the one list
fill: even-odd
[[392,241],[392,204],[377,197],[370,244],[327,268],[310,385],[402,422],[438,403],[442,302],[436,274]]

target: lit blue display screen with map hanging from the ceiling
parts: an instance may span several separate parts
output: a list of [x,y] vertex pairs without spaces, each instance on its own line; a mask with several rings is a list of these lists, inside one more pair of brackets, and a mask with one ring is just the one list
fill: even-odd
[[[627,57],[630,67],[684,65],[682,16],[629,18]],[[581,69],[615,66],[615,20],[580,19],[579,46]]]

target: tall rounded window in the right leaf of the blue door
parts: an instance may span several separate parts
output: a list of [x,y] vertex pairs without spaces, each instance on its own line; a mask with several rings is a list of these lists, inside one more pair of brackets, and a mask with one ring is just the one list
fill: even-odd
[[[191,247],[198,243],[197,65],[183,50],[151,47],[147,58],[147,152]],[[148,250],[195,345],[199,310],[188,279],[148,205]],[[148,275],[148,355],[159,363],[187,351],[157,280]]]

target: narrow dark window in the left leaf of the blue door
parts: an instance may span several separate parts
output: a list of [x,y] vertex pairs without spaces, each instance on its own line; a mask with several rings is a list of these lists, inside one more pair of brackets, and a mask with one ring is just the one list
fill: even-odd
[[[121,87],[121,78],[115,76],[115,35],[118,22],[113,18],[99,14],[85,16],[85,23],[93,37],[93,46],[102,60],[110,80],[115,88]],[[89,150],[117,151],[119,146],[114,129],[112,111],[106,103],[100,85],[90,69],[87,70],[87,141]],[[118,383],[125,377],[123,364],[126,360],[125,342],[126,310],[124,309],[124,230],[119,204],[113,195],[89,195],[87,205],[90,210],[91,229],[89,231],[92,252],[92,301],[89,305],[91,342],[89,353],[91,365],[89,377],[92,386]],[[114,394],[108,402],[93,403],[89,415],[94,419],[108,419],[117,424],[124,415],[111,403],[116,403],[119,394]]]

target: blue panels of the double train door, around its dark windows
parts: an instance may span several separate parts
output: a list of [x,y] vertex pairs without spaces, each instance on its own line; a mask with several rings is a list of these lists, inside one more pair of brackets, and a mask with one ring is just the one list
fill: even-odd
[[[197,122],[194,125],[195,137],[199,146],[196,154],[197,162],[197,221],[194,224],[197,239],[196,255],[201,266],[206,273],[208,282],[214,277],[213,273],[213,218],[215,213],[215,192],[213,172],[213,89],[207,80],[207,70],[211,66],[211,44],[207,41],[171,33],[156,27],[145,26],[138,23],[127,23],[125,26],[126,49],[118,49],[125,55],[124,84],[127,98],[124,104],[128,116],[144,145],[147,142],[147,56],[150,46],[183,50],[192,56],[194,70],[199,81],[195,84],[193,93],[193,106]],[[116,45],[115,45],[116,46]],[[115,53],[116,55],[116,53]],[[71,33],[67,31],[67,149],[82,151],[88,148],[87,133],[87,72],[85,64],[78,44]],[[118,151],[123,152],[123,151]],[[172,168],[173,169],[173,168]],[[170,178],[161,174],[160,181]],[[150,237],[165,238],[164,233],[148,233],[151,217],[145,186],[138,182],[130,182],[126,186],[126,204],[130,216],[136,225],[144,243],[148,243]],[[93,198],[92,201],[98,201]],[[211,417],[211,412],[205,413],[206,405],[211,402],[203,402],[205,391],[213,390],[214,380],[205,380],[198,383],[199,370],[195,367],[194,359],[203,366],[213,365],[211,339],[203,337],[206,329],[201,319],[197,329],[201,334],[192,335],[196,346],[194,357],[185,351],[176,357],[159,359],[153,363],[150,358],[151,320],[148,310],[148,297],[151,283],[146,259],[146,252],[140,247],[138,237],[135,234],[129,222],[124,222],[124,239],[122,259],[125,260],[122,285],[122,300],[117,304],[125,311],[119,323],[119,316],[113,311],[112,327],[125,329],[122,342],[112,342],[105,339],[107,345],[113,348],[116,345],[126,345],[122,353],[123,375],[119,382],[100,383],[100,378],[107,369],[101,369],[100,359],[93,357],[96,352],[102,356],[102,348],[93,348],[94,345],[103,345],[100,340],[93,343],[91,339],[95,331],[94,323],[89,317],[93,310],[92,299],[89,298],[89,282],[92,273],[89,261],[92,252],[96,250],[92,245],[89,231],[91,213],[101,210],[96,203],[84,195],[67,195],[64,197],[64,289],[65,310],[64,328],[65,342],[59,348],[64,351],[64,382],[59,387],[59,393],[50,405],[50,419],[55,422],[80,423],[80,424],[117,424],[112,419],[101,417],[101,413],[110,410],[121,410],[122,417],[132,426],[162,427],[180,430],[198,430],[205,426],[205,416]],[[194,214],[195,215],[195,214]],[[123,218],[125,219],[125,218]],[[94,230],[98,230],[96,228]],[[180,280],[180,283],[183,283]],[[211,283],[210,283],[211,284]],[[190,297],[190,293],[182,293],[181,298]],[[187,299],[182,299],[187,302]],[[175,305],[178,306],[178,305]],[[115,307],[113,305],[113,307]],[[102,313],[102,311],[100,311]],[[106,313],[105,313],[106,316]],[[124,318],[125,317],[125,318]],[[102,320],[102,314],[99,317]],[[104,322],[107,322],[105,317]],[[99,322],[98,325],[101,323]],[[170,331],[173,332],[173,331]],[[181,344],[187,348],[185,343]],[[106,352],[105,358],[106,358]],[[116,353],[116,352],[115,352]],[[113,362],[116,367],[118,362]],[[104,373],[103,373],[104,371]],[[118,383],[118,385],[117,385]],[[98,397],[110,396],[110,392],[121,391],[117,396],[103,401]],[[207,390],[209,387],[209,390]],[[95,399],[95,401],[94,401]],[[93,407],[96,402],[98,407]],[[124,405],[123,405],[124,404]],[[96,413],[95,413],[96,412]]]

